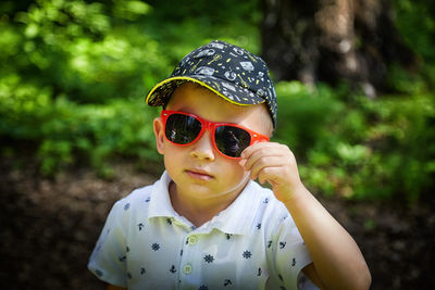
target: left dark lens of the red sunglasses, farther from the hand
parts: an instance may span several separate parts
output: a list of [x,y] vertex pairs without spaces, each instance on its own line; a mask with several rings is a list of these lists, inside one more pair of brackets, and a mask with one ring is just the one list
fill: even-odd
[[201,123],[187,115],[173,114],[166,119],[164,134],[177,144],[187,144],[195,140],[201,131]]

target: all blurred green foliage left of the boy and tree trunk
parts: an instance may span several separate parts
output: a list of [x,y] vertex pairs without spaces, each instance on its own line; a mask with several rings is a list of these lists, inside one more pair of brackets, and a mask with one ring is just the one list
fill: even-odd
[[1,152],[30,141],[49,176],[85,164],[110,177],[114,157],[158,160],[145,93],[212,38],[257,49],[256,3],[204,14],[197,1],[2,1]]

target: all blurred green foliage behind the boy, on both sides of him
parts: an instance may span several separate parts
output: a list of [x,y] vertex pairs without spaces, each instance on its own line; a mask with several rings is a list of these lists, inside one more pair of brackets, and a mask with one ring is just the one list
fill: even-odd
[[[144,103],[147,90],[211,39],[259,53],[259,5],[1,1],[1,154],[17,156],[17,144],[29,142],[48,176],[79,164],[110,177],[117,157],[149,166],[160,156],[152,133],[158,109]],[[415,200],[433,189],[434,5],[394,5],[396,24],[421,63],[413,71],[389,67],[396,96],[371,100],[346,86],[276,84],[274,140],[291,148],[304,182],[324,194]]]

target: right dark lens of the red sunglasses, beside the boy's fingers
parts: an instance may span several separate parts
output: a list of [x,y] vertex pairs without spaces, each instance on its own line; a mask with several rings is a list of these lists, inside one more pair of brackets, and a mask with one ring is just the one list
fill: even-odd
[[231,157],[239,157],[251,142],[249,133],[232,126],[217,127],[214,139],[219,151]]

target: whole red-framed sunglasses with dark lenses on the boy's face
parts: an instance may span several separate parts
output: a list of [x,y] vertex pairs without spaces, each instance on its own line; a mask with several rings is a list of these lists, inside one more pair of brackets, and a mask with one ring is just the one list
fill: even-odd
[[240,159],[241,152],[249,146],[269,141],[266,136],[248,128],[231,123],[209,122],[184,112],[163,110],[161,118],[164,136],[170,142],[188,146],[201,138],[206,130],[211,130],[214,148],[229,159]]

